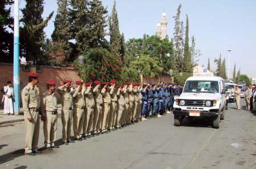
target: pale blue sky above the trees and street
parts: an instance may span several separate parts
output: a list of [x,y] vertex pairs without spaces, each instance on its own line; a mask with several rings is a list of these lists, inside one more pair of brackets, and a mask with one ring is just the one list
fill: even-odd
[[[25,6],[24,0],[20,7]],[[109,15],[114,0],[103,0]],[[255,39],[256,39],[256,1],[254,0],[117,0],[119,30],[125,39],[142,38],[143,34],[155,35],[157,23],[163,11],[167,14],[168,35],[173,37],[174,19],[178,5],[182,5],[181,19],[186,21],[189,16],[190,34],[196,38],[196,49],[201,50],[199,65],[207,67],[210,58],[211,69],[215,70],[214,59],[226,58],[227,73],[230,53],[230,78],[233,77],[234,64],[237,70],[250,78],[256,78]],[[46,17],[57,12],[57,0],[45,0]],[[54,30],[54,17],[45,29],[50,38]],[[191,44],[191,41],[190,41]]]

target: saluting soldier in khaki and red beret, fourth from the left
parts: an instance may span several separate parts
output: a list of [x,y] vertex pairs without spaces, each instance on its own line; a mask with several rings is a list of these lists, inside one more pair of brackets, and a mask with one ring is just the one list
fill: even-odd
[[85,119],[85,99],[82,92],[82,81],[75,82],[77,88],[73,92],[74,98],[74,138],[82,141],[83,120]]

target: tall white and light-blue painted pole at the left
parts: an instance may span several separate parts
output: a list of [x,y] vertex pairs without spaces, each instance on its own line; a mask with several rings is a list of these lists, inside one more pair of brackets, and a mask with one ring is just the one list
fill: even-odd
[[14,114],[19,115],[19,0],[14,0],[13,83],[15,96]]

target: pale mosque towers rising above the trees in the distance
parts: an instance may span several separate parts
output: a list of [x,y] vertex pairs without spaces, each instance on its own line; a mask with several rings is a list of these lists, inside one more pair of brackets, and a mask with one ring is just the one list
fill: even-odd
[[167,35],[167,15],[165,12],[162,13],[161,22],[157,23],[157,30],[155,31],[158,37],[161,39],[168,38]]

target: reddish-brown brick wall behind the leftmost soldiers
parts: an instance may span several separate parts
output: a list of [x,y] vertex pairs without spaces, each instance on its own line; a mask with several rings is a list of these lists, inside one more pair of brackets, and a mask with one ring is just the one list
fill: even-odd
[[[3,86],[6,85],[7,81],[13,82],[13,65],[0,63],[0,89],[3,89]],[[21,84],[21,90],[27,85],[29,71],[22,69],[22,66],[19,67],[19,80]],[[51,66],[42,66],[39,74],[39,87],[41,92],[46,91],[46,82],[49,79],[54,79],[57,81],[57,87],[62,85],[64,79],[70,79],[75,82],[79,80],[77,75],[77,70],[73,68],[62,68],[62,67],[51,67]],[[56,92],[57,94],[57,92]],[[58,97],[58,94],[57,94]],[[2,92],[0,92],[0,99],[2,100]],[[22,104],[21,104],[22,105]],[[3,107],[1,103],[1,107]]]

